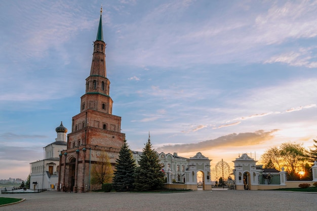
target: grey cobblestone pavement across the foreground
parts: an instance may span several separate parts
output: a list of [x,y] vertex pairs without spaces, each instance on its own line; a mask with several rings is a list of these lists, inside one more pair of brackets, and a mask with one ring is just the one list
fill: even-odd
[[0,210],[317,210],[317,194],[261,190],[178,193],[89,192],[1,194],[26,200]]

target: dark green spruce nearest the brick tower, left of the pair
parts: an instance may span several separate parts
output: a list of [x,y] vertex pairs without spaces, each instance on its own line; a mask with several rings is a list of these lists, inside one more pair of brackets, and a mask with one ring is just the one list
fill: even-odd
[[126,140],[124,140],[116,163],[112,180],[113,189],[115,191],[133,190],[136,165]]

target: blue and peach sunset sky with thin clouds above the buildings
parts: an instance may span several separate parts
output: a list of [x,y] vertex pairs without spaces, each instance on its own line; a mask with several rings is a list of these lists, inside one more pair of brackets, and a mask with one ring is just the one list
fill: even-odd
[[102,5],[112,114],[130,148],[260,160],[317,136],[317,1],[0,0],[0,179],[71,132]]

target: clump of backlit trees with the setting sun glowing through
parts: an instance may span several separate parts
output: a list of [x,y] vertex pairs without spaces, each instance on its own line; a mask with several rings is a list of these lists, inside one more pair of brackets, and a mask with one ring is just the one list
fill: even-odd
[[282,167],[284,167],[288,173],[288,180],[299,180],[308,176],[309,172],[305,170],[309,158],[308,151],[303,145],[295,142],[286,142],[279,147],[271,147],[261,156],[263,167],[266,169],[282,171]]

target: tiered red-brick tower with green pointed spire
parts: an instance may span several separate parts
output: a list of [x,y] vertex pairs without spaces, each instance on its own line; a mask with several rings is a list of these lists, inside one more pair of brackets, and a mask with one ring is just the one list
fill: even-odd
[[121,133],[121,117],[112,115],[101,15],[86,93],[81,97],[81,112],[72,118],[67,149],[60,153],[59,191],[91,190],[91,166],[98,163],[98,156],[103,152],[114,165],[125,139]]

